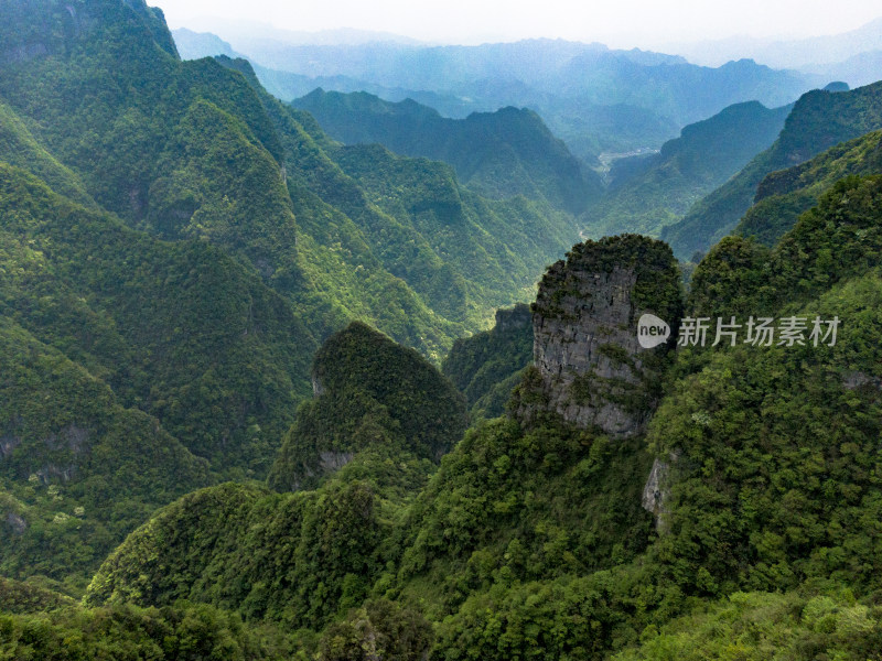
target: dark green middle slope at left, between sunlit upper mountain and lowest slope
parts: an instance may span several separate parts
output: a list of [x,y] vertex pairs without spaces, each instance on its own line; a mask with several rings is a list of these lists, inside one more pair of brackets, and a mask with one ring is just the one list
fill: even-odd
[[267,469],[316,346],[281,296],[204,242],[159,241],[7,165],[0,210],[6,317],[216,469]]

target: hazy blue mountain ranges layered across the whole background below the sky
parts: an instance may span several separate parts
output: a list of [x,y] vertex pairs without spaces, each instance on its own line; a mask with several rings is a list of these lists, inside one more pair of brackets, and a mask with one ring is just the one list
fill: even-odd
[[[550,40],[472,47],[379,42],[316,46],[267,41],[250,43],[255,52],[249,55],[287,69],[259,65],[256,69],[282,98],[321,82],[327,91],[311,91],[295,105],[312,112],[344,142],[376,141],[408,155],[444,160],[464,181],[490,195],[517,189],[534,198],[541,195],[571,212],[590,198],[596,199],[592,183],[591,193],[576,202],[572,191],[578,180],[572,180],[572,185],[550,185],[552,180],[547,174],[562,172],[560,167],[525,159],[524,152],[503,158],[505,150],[477,150],[476,155],[475,150],[466,149],[491,145],[498,139],[491,139],[487,121],[495,117],[498,123],[503,116],[486,112],[507,102],[533,109],[585,164],[602,172],[601,154],[604,163],[612,163],[610,189],[599,205],[583,206],[583,236],[662,232],[678,257],[686,259],[734,228],[765,174],[875,128],[870,120],[856,119],[858,123],[852,126],[849,118],[867,109],[858,110],[847,102],[857,98],[853,93],[842,93],[848,89],[847,83],[830,84],[827,91],[805,97],[821,99],[842,93],[838,102],[848,106],[841,109],[842,117],[818,110],[824,119],[807,120],[803,126],[799,118],[815,111],[807,110],[810,104],[803,100],[784,126],[789,104],[820,82],[875,79],[873,72],[882,62],[882,51],[867,50],[880,39],[875,26],[876,22],[871,23],[841,39],[777,44],[777,51],[770,46],[770,53],[792,52],[797,57],[805,52],[816,58],[831,58],[831,64],[806,65],[803,72],[774,71],[751,59],[701,67],[680,56]],[[175,39],[184,53],[235,54],[232,45],[213,35],[179,31]],[[856,52],[845,62],[835,62]],[[810,68],[824,73],[806,73]],[[370,88],[375,96],[333,91],[338,88]],[[485,115],[469,117],[465,113],[470,110]],[[460,124],[441,117],[444,113],[469,119]],[[477,130],[481,117],[483,128]],[[510,124],[510,111],[507,119]],[[528,123],[520,122],[520,130]],[[824,134],[815,136],[821,126],[826,127]],[[680,128],[682,136],[669,139]],[[772,152],[760,152],[772,145],[781,129],[782,140],[793,149],[787,148],[786,158],[766,162]],[[528,130],[520,136],[539,133]],[[508,147],[514,144],[510,136],[504,141]],[[548,143],[549,138],[541,140]],[[656,155],[616,160],[619,154],[659,147]],[[542,153],[548,156],[553,150]],[[537,174],[539,170],[545,174]],[[502,172],[505,174],[499,176]]]

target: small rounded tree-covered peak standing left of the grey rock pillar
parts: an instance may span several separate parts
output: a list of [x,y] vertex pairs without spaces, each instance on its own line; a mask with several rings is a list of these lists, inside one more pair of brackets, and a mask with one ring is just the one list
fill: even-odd
[[280,490],[314,486],[364,459],[437,462],[465,431],[462,395],[413,349],[354,322],[325,340],[312,366],[315,399],[300,405],[269,474]]

